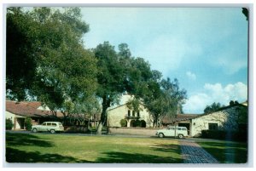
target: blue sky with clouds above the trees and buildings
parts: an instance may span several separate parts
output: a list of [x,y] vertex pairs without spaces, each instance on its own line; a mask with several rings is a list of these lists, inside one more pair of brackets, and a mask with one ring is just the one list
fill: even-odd
[[247,20],[241,8],[82,8],[85,48],[127,43],[187,90],[184,113],[247,100]]

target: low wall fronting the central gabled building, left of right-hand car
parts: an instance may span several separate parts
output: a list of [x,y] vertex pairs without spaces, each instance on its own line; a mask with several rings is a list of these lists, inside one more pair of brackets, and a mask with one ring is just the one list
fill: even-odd
[[127,128],[127,127],[111,127],[108,128],[108,134],[136,134],[155,136],[156,131],[160,128]]

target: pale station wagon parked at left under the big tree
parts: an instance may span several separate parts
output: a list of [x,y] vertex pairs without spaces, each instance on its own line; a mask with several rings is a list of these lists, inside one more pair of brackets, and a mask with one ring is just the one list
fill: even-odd
[[64,127],[60,122],[44,122],[42,125],[33,125],[32,132],[50,132],[54,134],[55,132],[63,132]]

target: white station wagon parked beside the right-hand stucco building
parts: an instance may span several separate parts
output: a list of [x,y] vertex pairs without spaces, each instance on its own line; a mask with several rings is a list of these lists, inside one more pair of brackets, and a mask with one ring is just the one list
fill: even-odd
[[182,139],[188,136],[188,129],[186,127],[167,127],[156,132],[156,135],[160,138],[174,137],[175,134],[178,138]]

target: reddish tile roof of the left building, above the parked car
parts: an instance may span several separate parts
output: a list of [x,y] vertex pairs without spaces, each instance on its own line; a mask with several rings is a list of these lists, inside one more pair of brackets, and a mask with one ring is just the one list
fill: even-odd
[[[5,101],[5,110],[16,115],[24,117],[51,117],[53,114],[51,111],[39,110],[42,104],[38,101]],[[57,116],[61,117],[61,112],[57,112]]]

